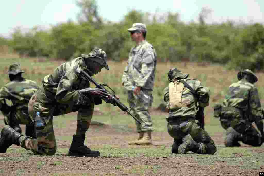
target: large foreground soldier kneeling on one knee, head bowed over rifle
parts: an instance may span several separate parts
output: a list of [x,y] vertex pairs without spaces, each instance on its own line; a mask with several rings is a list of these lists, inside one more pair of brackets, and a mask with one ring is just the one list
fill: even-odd
[[109,99],[109,94],[98,88],[89,88],[89,81],[81,74],[81,70],[89,75],[101,72],[105,67],[107,55],[101,49],[93,49],[88,55],[63,63],[54,69],[53,74],[44,77],[41,87],[31,97],[28,110],[32,118],[36,112],[44,118],[46,126],[43,130],[36,130],[37,139],[16,133],[10,126],[4,126],[1,131],[0,153],[6,152],[12,145],[31,150],[35,154],[54,155],[57,149],[53,130],[53,116],[63,115],[78,111],[76,134],[69,149],[70,156],[100,155],[99,151],[93,151],[84,145],[85,133],[91,123],[95,104],[101,104],[102,100]]

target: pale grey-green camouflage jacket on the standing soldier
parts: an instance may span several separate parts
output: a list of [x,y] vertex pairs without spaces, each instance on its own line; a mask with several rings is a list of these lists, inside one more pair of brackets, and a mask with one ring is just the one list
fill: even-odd
[[133,90],[133,86],[153,90],[156,65],[157,54],[149,42],[144,40],[133,47],[122,77],[124,87],[129,91]]

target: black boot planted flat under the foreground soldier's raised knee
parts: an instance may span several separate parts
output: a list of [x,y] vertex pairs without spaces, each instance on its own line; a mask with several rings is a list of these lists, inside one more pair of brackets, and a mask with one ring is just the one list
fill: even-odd
[[91,150],[83,144],[85,140],[85,135],[77,136],[73,135],[72,144],[69,149],[69,156],[87,156],[87,157],[97,157],[100,156],[99,151]]

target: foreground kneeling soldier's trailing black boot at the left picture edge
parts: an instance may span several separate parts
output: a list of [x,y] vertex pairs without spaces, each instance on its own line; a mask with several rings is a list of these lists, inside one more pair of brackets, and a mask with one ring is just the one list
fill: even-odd
[[19,137],[22,136],[16,132],[11,126],[6,125],[1,131],[0,138],[0,153],[6,153],[6,150],[12,145],[16,144],[20,146]]

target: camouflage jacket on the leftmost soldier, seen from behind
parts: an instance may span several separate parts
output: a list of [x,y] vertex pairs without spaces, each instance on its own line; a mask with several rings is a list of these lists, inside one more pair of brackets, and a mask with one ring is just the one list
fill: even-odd
[[0,102],[8,99],[13,108],[27,111],[27,104],[37,88],[36,82],[28,79],[11,81],[0,89]]

